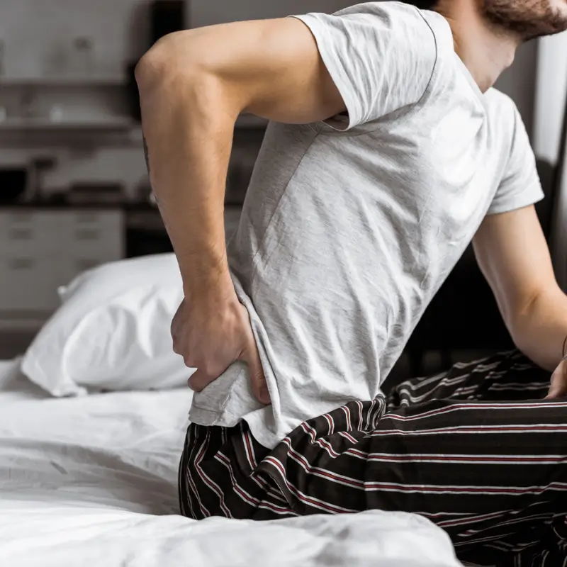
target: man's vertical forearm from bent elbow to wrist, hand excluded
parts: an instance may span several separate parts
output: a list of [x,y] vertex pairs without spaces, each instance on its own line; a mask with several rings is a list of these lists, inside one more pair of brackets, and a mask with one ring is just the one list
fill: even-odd
[[229,286],[224,196],[235,116],[208,77],[139,69],[150,183],[186,294]]

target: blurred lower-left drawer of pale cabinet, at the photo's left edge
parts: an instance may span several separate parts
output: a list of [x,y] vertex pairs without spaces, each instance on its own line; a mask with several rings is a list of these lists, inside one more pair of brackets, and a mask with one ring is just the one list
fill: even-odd
[[26,255],[0,258],[0,310],[52,311],[59,305],[50,259]]

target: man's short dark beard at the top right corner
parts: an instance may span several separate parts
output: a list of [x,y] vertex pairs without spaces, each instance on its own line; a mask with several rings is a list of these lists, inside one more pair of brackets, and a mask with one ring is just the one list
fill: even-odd
[[567,14],[549,0],[481,0],[481,11],[493,26],[522,41],[567,30]]

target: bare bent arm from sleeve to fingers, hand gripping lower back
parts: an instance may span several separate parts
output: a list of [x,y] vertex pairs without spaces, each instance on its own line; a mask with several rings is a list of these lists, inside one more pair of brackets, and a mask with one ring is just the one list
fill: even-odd
[[[344,111],[313,35],[295,18],[166,36],[137,64],[150,182],[179,262],[186,301],[174,349],[203,389],[247,361],[266,401],[249,322],[230,280],[223,202],[232,133],[242,112],[309,123]],[[254,380],[257,376],[257,380]]]

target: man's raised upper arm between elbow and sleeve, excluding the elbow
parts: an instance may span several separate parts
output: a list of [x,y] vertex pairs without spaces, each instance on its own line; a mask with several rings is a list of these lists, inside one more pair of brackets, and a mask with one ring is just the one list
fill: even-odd
[[345,110],[315,38],[298,19],[243,21],[194,32],[191,54],[218,77],[237,112],[310,123]]

